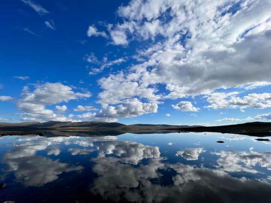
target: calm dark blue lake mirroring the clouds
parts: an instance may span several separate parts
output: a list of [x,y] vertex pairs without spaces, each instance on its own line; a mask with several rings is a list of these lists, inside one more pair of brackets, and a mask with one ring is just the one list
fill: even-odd
[[271,202],[271,141],[256,138],[4,136],[0,202]]

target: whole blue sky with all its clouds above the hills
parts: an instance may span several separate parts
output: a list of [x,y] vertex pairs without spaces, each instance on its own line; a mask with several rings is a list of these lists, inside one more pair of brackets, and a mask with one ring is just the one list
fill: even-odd
[[270,121],[270,6],[2,2],[0,122]]

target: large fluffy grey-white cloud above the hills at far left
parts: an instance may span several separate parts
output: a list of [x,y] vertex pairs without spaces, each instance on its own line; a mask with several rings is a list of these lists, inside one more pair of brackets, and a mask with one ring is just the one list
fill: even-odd
[[[69,100],[88,98],[91,94],[73,92],[72,88],[61,83],[45,83],[35,85],[35,90],[29,92],[27,89],[21,94],[22,99],[17,102],[17,108],[24,111],[21,114],[24,120],[32,121],[73,121],[62,115],[55,114],[46,109],[46,105],[68,102]],[[59,107],[57,107],[59,108]],[[67,107],[66,107],[67,108]],[[64,110],[64,107],[59,109]],[[26,117],[24,117],[26,116]]]

